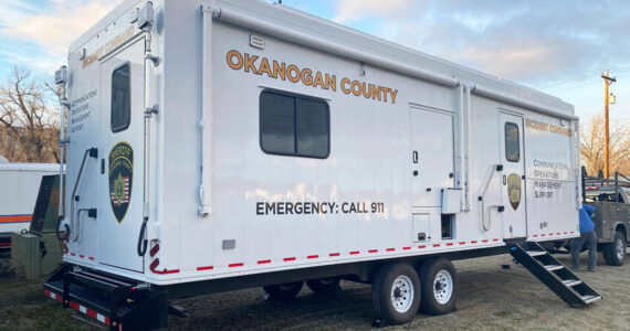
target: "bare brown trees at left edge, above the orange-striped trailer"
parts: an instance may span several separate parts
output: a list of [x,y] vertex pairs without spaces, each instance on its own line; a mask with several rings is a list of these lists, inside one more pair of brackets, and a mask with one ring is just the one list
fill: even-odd
[[59,162],[59,90],[14,67],[0,85],[0,154],[11,162]]

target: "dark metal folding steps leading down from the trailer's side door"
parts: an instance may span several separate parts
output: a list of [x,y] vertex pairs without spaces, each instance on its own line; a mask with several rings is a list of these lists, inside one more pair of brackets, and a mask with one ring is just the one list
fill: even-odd
[[571,307],[587,306],[601,296],[537,243],[508,243],[510,254]]

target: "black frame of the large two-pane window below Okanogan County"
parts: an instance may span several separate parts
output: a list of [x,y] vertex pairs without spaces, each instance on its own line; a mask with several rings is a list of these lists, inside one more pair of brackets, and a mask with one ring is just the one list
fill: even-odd
[[[279,96],[283,96],[283,97],[292,97],[294,99],[294,103],[293,103],[293,121],[294,121],[293,139],[295,141],[295,145],[294,145],[295,152],[293,152],[293,153],[269,151],[263,147],[262,98],[264,95],[267,95],[267,94],[279,95]],[[322,103],[322,104],[324,104],[324,106],[326,106],[326,127],[328,128],[328,130],[327,130],[327,138],[328,139],[327,139],[327,143],[326,143],[326,151],[327,152],[325,156],[311,156],[311,154],[304,154],[304,153],[297,152],[297,99],[317,102],[317,103]],[[259,146],[265,154],[325,160],[330,156],[330,137],[332,137],[332,134],[330,134],[330,105],[328,105],[328,102],[326,99],[313,97],[313,96],[304,95],[304,94],[297,94],[297,93],[293,93],[293,92],[274,89],[274,88],[264,88],[260,93],[260,95],[259,95]]]

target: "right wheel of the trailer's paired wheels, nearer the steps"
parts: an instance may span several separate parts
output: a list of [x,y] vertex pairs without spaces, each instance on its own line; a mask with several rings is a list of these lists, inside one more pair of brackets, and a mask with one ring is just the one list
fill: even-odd
[[459,282],[453,264],[447,258],[432,258],[420,266],[418,274],[422,285],[422,311],[435,316],[455,311]]

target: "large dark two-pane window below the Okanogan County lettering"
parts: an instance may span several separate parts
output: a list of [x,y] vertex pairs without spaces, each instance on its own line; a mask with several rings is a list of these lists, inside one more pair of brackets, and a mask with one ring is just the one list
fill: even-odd
[[260,98],[260,143],[265,153],[328,157],[328,104],[321,99],[264,90]]

